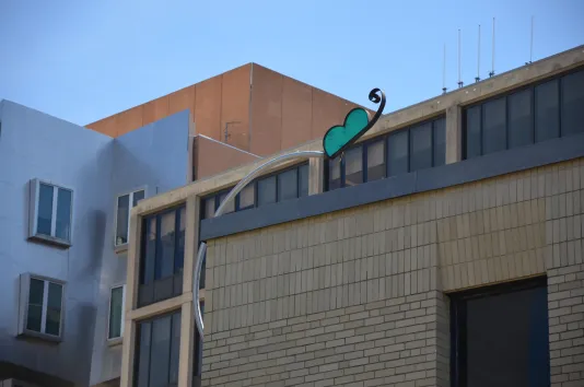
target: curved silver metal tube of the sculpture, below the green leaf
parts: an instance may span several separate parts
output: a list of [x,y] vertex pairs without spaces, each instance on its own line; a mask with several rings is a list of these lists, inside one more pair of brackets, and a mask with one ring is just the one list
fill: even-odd
[[[221,216],[223,212],[225,211],[225,206],[235,198],[237,194],[240,194],[245,186],[252,181],[257,175],[259,175],[265,169],[269,168],[270,166],[273,166],[276,164],[279,164],[287,160],[294,160],[294,159],[322,159],[324,157],[325,153],[322,151],[299,151],[293,153],[287,153],[278,155],[271,160],[268,160],[264,164],[257,166],[254,171],[247,174],[233,189],[229,192],[229,195],[223,199],[221,204],[215,211],[214,216]],[[199,254],[197,255],[197,261],[195,262],[195,273],[194,273],[194,281],[192,281],[192,301],[196,303],[195,307],[195,322],[197,324],[197,329],[199,330],[199,335],[202,339],[203,335],[203,324],[202,324],[202,315],[201,315],[201,306],[199,301],[199,284],[201,281],[201,268],[202,268],[202,260],[205,258],[205,253],[207,251],[207,244],[205,242],[201,242],[199,247]]]

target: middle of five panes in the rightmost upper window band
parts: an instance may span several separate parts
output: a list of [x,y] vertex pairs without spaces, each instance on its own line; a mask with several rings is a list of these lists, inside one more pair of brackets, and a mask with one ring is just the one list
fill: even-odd
[[509,148],[534,143],[532,90],[512,94],[509,104]]

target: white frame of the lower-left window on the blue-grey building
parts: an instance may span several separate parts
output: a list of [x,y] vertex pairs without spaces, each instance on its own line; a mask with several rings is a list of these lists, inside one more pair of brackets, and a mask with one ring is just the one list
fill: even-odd
[[[28,295],[31,293],[31,279],[43,281],[45,284],[43,291],[43,315],[40,320],[40,331],[31,330],[26,328],[26,322],[28,320]],[[46,333],[46,324],[47,324],[47,303],[48,303],[48,286],[49,283],[55,283],[61,286],[61,315],[59,320],[59,335]],[[48,278],[44,275],[37,275],[32,273],[23,273],[20,277],[20,304],[19,304],[19,326],[17,335],[19,336],[33,336],[42,339],[47,339],[50,341],[61,341],[65,324],[65,294],[66,294],[66,283],[65,281],[57,280],[54,278]]]

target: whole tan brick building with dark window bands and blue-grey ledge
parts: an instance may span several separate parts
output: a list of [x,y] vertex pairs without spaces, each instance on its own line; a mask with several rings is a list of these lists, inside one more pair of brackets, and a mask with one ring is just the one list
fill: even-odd
[[[122,387],[584,385],[583,46],[385,115],[212,218],[259,164],[132,210]],[[177,213],[178,258],[153,228]]]

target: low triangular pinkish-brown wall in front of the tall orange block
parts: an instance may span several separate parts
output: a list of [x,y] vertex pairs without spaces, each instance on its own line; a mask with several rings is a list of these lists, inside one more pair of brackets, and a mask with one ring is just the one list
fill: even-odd
[[258,156],[225,145],[217,140],[207,139],[201,136],[195,138],[194,163],[197,180],[258,159]]

